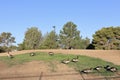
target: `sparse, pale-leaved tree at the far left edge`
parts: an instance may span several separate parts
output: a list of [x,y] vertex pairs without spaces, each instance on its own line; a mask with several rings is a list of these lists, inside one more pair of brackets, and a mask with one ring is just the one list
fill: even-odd
[[1,39],[1,44],[7,48],[7,51],[9,53],[9,51],[11,50],[11,46],[12,43],[15,43],[15,37],[12,37],[12,34],[9,32],[3,32],[0,35],[0,39]]

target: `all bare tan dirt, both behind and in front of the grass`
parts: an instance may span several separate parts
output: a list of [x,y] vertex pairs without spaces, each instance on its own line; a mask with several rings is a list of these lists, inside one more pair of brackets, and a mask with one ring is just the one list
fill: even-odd
[[[86,55],[100,58],[105,61],[120,65],[120,50],[25,50],[11,52],[13,55],[24,54],[29,52],[54,52],[64,54]],[[0,54],[6,56],[7,53]],[[85,80],[84,78],[93,78],[91,75],[82,75],[65,64],[56,62],[54,69],[49,67],[50,64],[43,61],[32,61],[22,65],[8,67],[0,62],[0,80]],[[101,76],[100,76],[101,77]],[[94,76],[95,78],[95,76]],[[120,79],[120,78],[119,78]],[[119,80],[111,79],[111,80]],[[106,79],[100,79],[106,80]]]

